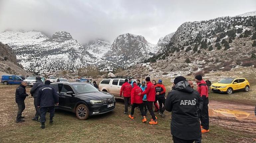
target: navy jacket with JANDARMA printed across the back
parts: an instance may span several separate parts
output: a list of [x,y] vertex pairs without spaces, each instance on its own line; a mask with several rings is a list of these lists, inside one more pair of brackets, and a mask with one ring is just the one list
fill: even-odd
[[59,103],[59,97],[53,87],[50,85],[44,85],[39,89],[39,94],[37,96],[37,106],[51,107],[56,103]]

